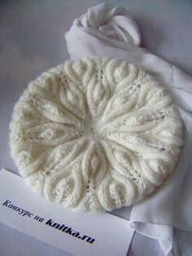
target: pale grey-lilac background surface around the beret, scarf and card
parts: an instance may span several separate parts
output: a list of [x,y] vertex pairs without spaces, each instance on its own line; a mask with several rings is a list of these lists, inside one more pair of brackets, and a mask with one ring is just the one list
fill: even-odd
[[[16,101],[30,80],[68,60],[64,33],[75,18],[100,2],[103,1],[0,1],[1,168],[17,172],[11,160],[8,129]],[[192,1],[107,2],[126,8],[133,16],[142,31],[142,46],[192,76]],[[3,224],[0,233],[1,256],[69,255]],[[181,238],[180,232],[175,234]],[[136,234],[128,255],[161,256],[163,253],[157,241]]]

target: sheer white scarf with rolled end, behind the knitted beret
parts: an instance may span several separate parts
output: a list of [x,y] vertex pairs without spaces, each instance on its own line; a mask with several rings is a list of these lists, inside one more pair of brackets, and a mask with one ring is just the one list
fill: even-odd
[[121,7],[102,3],[74,20],[66,33],[72,59],[93,55],[110,56],[140,66],[155,75],[172,96],[185,122],[185,144],[177,170],[164,186],[145,201],[133,206],[131,225],[146,236],[159,238],[168,254],[172,249],[172,228],[192,231],[192,78],[181,69],[142,48],[137,24]]

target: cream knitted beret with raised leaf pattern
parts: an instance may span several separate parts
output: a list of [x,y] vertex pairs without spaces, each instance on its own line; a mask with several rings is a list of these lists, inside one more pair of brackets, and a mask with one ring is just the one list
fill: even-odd
[[107,57],[69,60],[21,95],[11,155],[33,191],[97,212],[141,201],[172,173],[182,122],[163,86]]

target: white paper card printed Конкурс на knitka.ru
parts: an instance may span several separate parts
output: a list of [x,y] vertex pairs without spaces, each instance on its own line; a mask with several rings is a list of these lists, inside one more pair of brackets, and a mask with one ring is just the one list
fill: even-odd
[[0,171],[0,222],[77,256],[123,256],[133,238],[128,220],[46,201],[7,170]]

